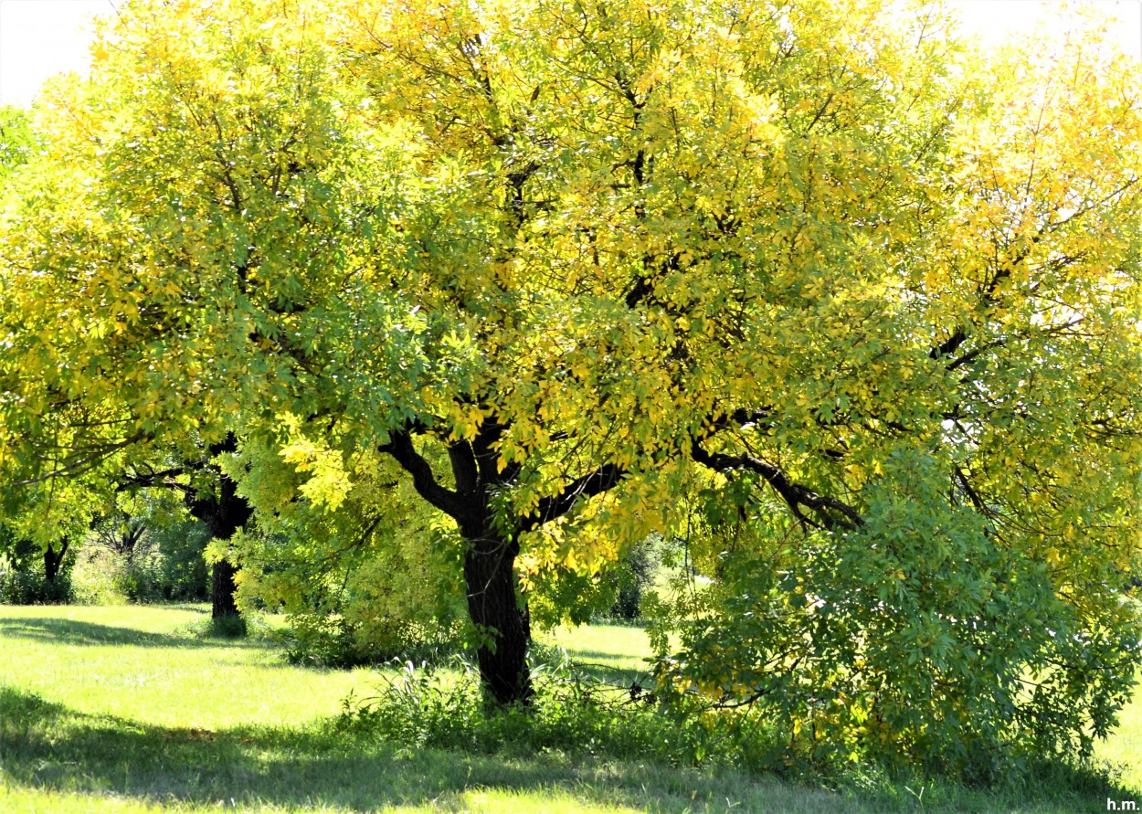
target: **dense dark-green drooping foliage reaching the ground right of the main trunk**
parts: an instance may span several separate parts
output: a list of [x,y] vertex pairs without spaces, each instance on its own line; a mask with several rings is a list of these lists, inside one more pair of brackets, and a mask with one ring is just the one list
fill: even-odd
[[[1121,578],[1109,563],[1075,575],[1081,598],[1068,602],[1046,563],[941,505],[941,472],[931,456],[894,456],[860,529],[723,550],[718,580],[658,631],[664,688],[758,708],[798,759],[990,781],[1020,755],[1089,755],[1142,653]],[[682,637],[675,655],[667,630]]]

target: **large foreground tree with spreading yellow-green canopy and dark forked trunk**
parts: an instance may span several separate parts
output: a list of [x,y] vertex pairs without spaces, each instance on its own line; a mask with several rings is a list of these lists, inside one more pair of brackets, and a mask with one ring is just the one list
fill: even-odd
[[[877,718],[907,698],[870,638],[904,607],[882,586],[955,574],[934,623],[957,591],[1037,580],[1022,626],[976,607],[904,651],[939,677],[986,628],[979,694],[1059,655],[1007,646],[1034,619],[1112,630],[1056,660],[1104,731],[1136,623],[1104,577],[1136,557],[1142,451],[1124,63],[1081,37],[983,62],[939,10],[871,0],[139,2],[114,25],[93,83],[49,99],[46,180],[3,228],[7,460],[34,466],[53,394],[119,411],[70,426],[75,450],[289,426],[348,478],[380,452],[465,541],[501,702],[531,693],[529,574],[685,535],[697,506],[749,522],[750,571],[798,610],[874,597],[846,612],[860,646],[822,628],[815,662],[877,666],[835,685],[856,728],[916,725]],[[340,489],[313,472],[306,499]],[[751,643],[724,652],[802,663],[723,618]],[[710,644],[682,684],[765,695],[771,672]],[[959,711],[1006,702],[1043,734],[1063,701],[1031,694]]]

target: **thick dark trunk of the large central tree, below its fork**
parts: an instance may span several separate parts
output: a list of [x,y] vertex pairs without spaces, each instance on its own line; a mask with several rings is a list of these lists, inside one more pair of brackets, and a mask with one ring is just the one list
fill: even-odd
[[526,660],[531,626],[516,594],[516,554],[514,543],[484,535],[468,539],[464,556],[468,613],[490,637],[476,652],[480,678],[501,704],[528,704],[534,692]]

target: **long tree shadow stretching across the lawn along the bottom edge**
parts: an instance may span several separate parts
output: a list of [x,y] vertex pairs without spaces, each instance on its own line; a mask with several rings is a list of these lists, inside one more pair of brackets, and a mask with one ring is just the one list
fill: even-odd
[[[766,811],[795,801],[803,812],[917,811],[903,791],[869,796],[781,787],[772,779],[711,776],[627,760],[578,765],[562,755],[478,755],[401,749],[321,728],[236,727],[209,731],[162,727],[113,716],[90,716],[13,687],[0,686],[0,767],[10,788],[126,796],[160,804],[332,808],[373,812],[386,805],[437,805],[465,809],[468,793],[555,793],[573,805],[628,806],[682,814],[722,811],[727,792]],[[1069,769],[1073,772],[1073,769]],[[1101,799],[1132,799],[1131,790],[1093,772],[1047,787],[1029,782],[1021,812],[1071,812]],[[1053,787],[1053,790],[1052,790]],[[771,793],[775,798],[771,798]],[[991,809],[1011,791],[952,795],[932,812]],[[772,799],[772,805],[770,800]],[[740,804],[733,804],[740,805]],[[774,805],[777,807],[774,807]],[[983,805],[984,807],[981,807]],[[749,809],[748,803],[747,808]],[[920,808],[923,809],[923,807]]]

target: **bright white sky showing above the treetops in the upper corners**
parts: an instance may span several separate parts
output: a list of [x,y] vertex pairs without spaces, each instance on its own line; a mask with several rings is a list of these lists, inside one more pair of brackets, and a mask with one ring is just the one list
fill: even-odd
[[[1142,61],[1142,0],[1080,0],[1117,18],[1112,35]],[[967,31],[984,42],[1057,18],[1063,0],[951,0]],[[0,0],[0,104],[27,105],[43,80],[86,71],[88,21],[112,15],[112,0]]]

